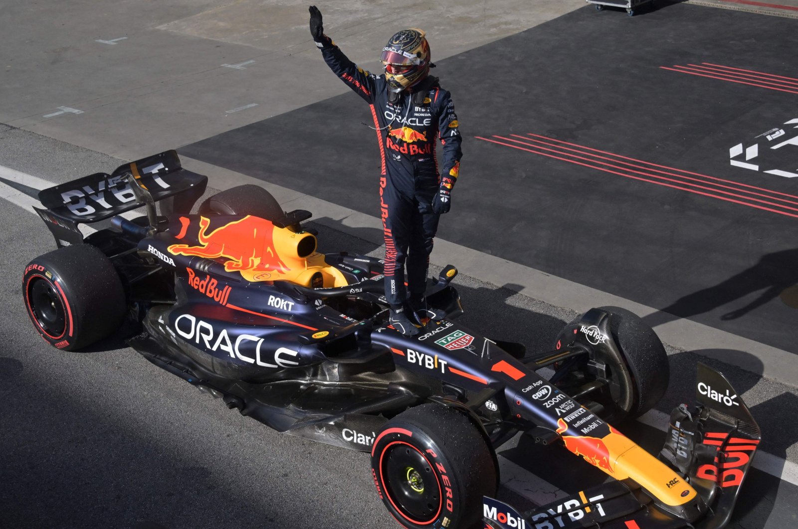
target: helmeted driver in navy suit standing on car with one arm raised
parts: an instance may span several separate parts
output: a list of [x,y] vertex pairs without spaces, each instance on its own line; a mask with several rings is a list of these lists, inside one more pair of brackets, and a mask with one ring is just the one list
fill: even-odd
[[[440,214],[452,206],[460,170],[460,131],[452,99],[437,77],[429,75],[433,65],[421,29],[404,29],[390,38],[382,49],[381,75],[366,72],[342,53],[324,34],[322,14],[315,6],[310,6],[310,34],[330,69],[371,107],[382,159],[385,298],[391,325],[416,335],[419,329],[413,320],[421,323],[433,315],[424,298],[429,254]],[[438,138],[444,151],[440,173]]]

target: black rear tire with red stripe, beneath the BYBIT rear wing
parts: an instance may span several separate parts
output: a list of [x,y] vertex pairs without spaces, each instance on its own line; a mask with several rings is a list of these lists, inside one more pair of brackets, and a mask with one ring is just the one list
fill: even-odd
[[65,351],[110,335],[126,312],[117,271],[93,245],[65,246],[30,261],[22,298],[41,337]]

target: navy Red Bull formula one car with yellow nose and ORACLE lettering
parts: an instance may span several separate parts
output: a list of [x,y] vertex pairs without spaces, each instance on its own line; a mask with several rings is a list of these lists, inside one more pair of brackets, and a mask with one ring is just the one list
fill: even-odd
[[[73,351],[127,333],[149,361],[243,415],[370,452],[377,493],[404,527],[729,521],[759,427],[702,365],[698,406],[674,410],[658,457],[610,425],[645,413],[668,384],[662,343],[631,312],[591,309],[551,351],[527,353],[452,321],[463,309],[449,265],[426,292],[445,317],[405,336],[388,324],[382,261],[318,253],[301,224],[310,214],[286,214],[259,186],[215,194],[190,214],[206,184],[167,151],[42,190],[37,211],[58,249],[22,280],[39,334]],[[146,216],[119,216],[141,206]],[[109,218],[88,237],[77,227]],[[554,374],[542,378],[543,367]],[[614,480],[519,513],[492,499],[496,448],[517,433]]]

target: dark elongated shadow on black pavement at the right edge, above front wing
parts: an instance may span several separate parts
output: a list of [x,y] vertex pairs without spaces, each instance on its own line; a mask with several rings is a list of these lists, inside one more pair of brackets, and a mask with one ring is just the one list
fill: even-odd
[[798,249],[765,254],[752,267],[712,287],[683,296],[643,320],[650,327],[657,327],[674,319],[712,312],[754,292],[759,292],[755,299],[725,312],[721,319],[740,318],[776,297],[780,297],[784,304],[798,308]]

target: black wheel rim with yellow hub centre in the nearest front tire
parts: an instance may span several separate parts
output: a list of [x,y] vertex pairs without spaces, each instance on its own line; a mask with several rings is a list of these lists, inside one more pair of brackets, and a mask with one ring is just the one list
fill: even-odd
[[440,514],[440,483],[429,460],[413,445],[394,442],[381,457],[385,492],[399,514],[413,523],[432,523]]

